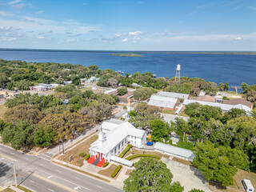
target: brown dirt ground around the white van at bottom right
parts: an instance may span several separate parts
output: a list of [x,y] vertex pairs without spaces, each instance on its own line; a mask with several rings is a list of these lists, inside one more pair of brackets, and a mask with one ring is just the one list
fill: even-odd
[[256,174],[254,173],[249,173],[245,170],[238,170],[238,172],[234,175],[234,185],[233,186],[228,186],[226,188],[209,182],[209,188],[210,190],[214,192],[239,192],[239,191],[245,191],[243,186],[242,186],[242,179],[249,179],[250,182],[253,184],[254,189],[256,187]]

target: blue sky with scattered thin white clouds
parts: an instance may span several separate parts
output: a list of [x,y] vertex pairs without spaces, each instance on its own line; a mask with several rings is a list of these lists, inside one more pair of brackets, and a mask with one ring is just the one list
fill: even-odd
[[256,51],[256,0],[0,0],[0,48]]

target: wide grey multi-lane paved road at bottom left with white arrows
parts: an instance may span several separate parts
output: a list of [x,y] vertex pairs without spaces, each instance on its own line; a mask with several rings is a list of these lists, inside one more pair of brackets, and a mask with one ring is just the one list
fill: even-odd
[[22,154],[2,145],[0,146],[0,186],[14,181],[13,167],[9,164],[11,159],[16,160],[18,184],[38,192],[122,191],[96,178],[55,165],[47,158]]

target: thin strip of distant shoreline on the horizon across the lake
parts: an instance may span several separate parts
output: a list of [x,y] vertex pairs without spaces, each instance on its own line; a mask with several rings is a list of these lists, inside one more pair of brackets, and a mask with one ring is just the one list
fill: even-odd
[[51,50],[51,49],[8,49],[0,48],[0,51],[46,51],[46,52],[94,52],[114,54],[238,54],[256,55],[256,51],[143,51],[143,50]]

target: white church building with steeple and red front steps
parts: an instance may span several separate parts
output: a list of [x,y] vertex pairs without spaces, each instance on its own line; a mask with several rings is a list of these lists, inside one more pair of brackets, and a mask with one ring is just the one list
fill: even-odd
[[90,157],[100,161],[115,161],[122,150],[131,144],[142,146],[146,143],[146,131],[135,128],[130,122],[112,120],[102,122],[98,140],[90,145]]

